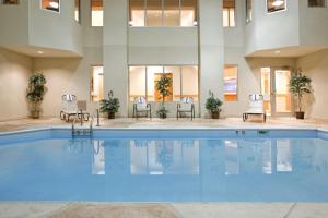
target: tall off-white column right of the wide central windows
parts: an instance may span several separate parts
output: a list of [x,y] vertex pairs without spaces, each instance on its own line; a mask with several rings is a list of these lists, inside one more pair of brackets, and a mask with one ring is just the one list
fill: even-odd
[[209,90],[223,99],[224,35],[222,0],[199,0],[200,114]]

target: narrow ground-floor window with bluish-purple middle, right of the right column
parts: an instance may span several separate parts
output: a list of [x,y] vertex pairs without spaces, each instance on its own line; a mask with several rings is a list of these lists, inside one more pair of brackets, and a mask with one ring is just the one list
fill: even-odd
[[238,66],[237,65],[225,65],[224,66],[224,100],[236,101],[237,100],[237,77]]

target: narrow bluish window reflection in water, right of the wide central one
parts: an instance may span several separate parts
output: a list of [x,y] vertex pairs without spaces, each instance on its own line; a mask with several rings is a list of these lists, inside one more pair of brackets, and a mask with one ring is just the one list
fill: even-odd
[[225,145],[225,174],[239,174],[238,142],[224,141]]

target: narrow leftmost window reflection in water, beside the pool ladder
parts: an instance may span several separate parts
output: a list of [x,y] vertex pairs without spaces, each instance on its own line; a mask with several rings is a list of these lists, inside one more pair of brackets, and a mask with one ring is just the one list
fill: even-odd
[[92,143],[92,174],[105,174],[104,141],[94,140]]

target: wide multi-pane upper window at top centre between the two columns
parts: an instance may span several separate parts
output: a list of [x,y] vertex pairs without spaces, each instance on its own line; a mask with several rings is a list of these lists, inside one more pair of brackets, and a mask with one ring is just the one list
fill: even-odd
[[196,26],[197,0],[130,0],[130,26]]

